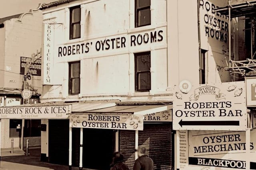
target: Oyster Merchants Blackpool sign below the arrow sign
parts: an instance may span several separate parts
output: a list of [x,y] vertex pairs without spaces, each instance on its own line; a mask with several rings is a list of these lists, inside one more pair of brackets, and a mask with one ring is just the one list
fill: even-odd
[[[246,153],[245,131],[189,131],[189,167],[193,170],[256,169],[256,131],[250,131]],[[250,160],[250,165],[246,165]]]

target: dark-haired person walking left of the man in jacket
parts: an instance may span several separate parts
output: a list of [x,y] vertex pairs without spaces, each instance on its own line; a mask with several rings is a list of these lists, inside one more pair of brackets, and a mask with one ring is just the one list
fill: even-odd
[[114,152],[110,170],[129,170],[127,164],[124,163],[124,155],[121,152]]

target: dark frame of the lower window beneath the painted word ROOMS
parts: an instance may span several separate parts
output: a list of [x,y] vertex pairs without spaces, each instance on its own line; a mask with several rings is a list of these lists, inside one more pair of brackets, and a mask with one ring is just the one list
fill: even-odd
[[[149,55],[150,57],[150,68],[149,70],[144,71],[138,71],[138,63],[137,63],[137,57],[142,55]],[[134,53],[134,66],[135,66],[135,92],[149,92],[151,90],[151,51],[145,51],[141,53]],[[150,73],[150,88],[149,89],[139,89],[139,74],[149,72]]]

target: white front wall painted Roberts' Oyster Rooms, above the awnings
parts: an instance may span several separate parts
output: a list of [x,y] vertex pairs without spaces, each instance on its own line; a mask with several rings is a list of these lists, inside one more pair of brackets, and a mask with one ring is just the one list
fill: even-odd
[[[140,98],[144,100],[152,99],[156,94],[170,96],[171,92],[166,91],[168,77],[166,3],[166,0],[152,0],[151,25],[139,28],[134,28],[133,0],[74,1],[44,10],[44,23],[52,23],[51,27],[54,28],[54,82],[53,86],[43,87],[42,102],[88,100],[88,98],[99,100],[102,96],[106,100],[133,100],[138,95],[143,96]],[[81,38],[69,40],[69,7],[79,4],[82,13]],[[150,34],[155,32],[159,41],[150,42]],[[137,39],[140,35],[142,37],[149,35],[149,41],[140,45],[137,41],[135,41],[136,45],[131,43],[134,37]],[[105,49],[106,44],[102,48],[99,43],[107,39],[110,40],[110,49]],[[115,39],[113,47],[111,39]],[[116,46],[116,39],[120,39],[120,48]],[[59,48],[81,43],[89,44],[87,53],[66,56],[59,53]],[[151,51],[152,89],[148,93],[136,93],[134,53],[144,51]],[[71,61],[81,61],[79,96],[68,96],[68,62]]]

